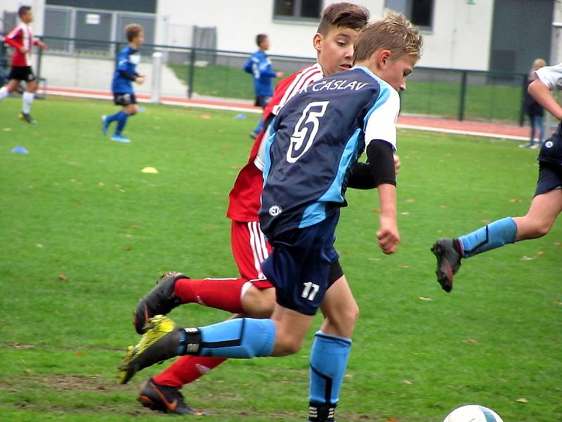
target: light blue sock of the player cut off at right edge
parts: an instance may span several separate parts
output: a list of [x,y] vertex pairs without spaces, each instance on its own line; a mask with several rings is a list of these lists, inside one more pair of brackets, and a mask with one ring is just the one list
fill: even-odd
[[487,250],[499,248],[507,243],[515,243],[517,224],[511,217],[505,217],[483,226],[480,229],[459,237],[462,257],[478,255]]

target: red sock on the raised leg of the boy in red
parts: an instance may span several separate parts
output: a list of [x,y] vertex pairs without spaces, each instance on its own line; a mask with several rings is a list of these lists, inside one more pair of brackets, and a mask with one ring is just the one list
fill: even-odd
[[222,309],[241,314],[242,299],[240,293],[246,279],[179,279],[174,286],[174,294],[182,303],[199,303],[200,305]]

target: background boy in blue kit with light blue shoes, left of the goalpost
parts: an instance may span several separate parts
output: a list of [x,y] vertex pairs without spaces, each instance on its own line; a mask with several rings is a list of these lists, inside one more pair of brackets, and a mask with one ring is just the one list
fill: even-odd
[[107,129],[111,122],[117,122],[115,133],[111,137],[112,141],[129,143],[130,139],[122,135],[123,129],[127,123],[129,116],[138,112],[136,104],[135,92],[133,91],[133,83],[142,85],[145,77],[136,72],[136,66],[141,61],[138,49],[143,45],[144,30],[141,25],[131,23],[125,27],[125,34],[129,45],[126,46],[117,58],[117,68],[113,74],[111,91],[113,92],[113,102],[117,106],[123,106],[123,110],[118,111],[110,116],[103,115],[101,117],[102,131],[107,135]]

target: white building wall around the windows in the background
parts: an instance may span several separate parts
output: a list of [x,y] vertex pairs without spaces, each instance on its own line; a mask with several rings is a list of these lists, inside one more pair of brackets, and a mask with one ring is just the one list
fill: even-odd
[[[325,1],[325,6],[333,2]],[[384,0],[353,2],[369,8],[372,19],[384,13]],[[493,0],[471,3],[475,4],[466,0],[435,0],[433,28],[424,32],[424,56],[419,65],[488,70]],[[270,54],[314,56],[312,37],[317,24],[273,20],[273,0],[238,0],[235,6],[227,6],[223,0],[159,0],[158,13],[167,16],[171,26],[216,27],[220,50],[254,51],[256,34],[263,32],[270,36]]]

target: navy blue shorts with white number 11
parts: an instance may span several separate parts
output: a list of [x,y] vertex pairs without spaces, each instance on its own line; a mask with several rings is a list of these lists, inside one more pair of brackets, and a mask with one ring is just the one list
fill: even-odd
[[277,303],[282,307],[305,315],[316,313],[335,281],[331,270],[333,273],[339,258],[334,249],[338,219],[339,212],[335,212],[318,224],[284,231],[269,239],[273,252],[261,268],[275,286]]

